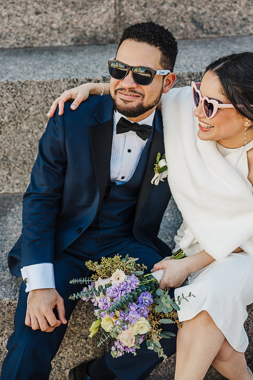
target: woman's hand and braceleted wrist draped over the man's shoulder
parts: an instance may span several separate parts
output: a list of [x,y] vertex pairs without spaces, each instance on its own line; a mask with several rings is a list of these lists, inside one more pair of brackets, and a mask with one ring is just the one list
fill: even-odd
[[[101,83],[84,83],[73,89],[64,91],[53,103],[47,114],[48,117],[53,116],[57,106],[59,105],[59,115],[63,114],[65,101],[75,99],[71,104],[71,109],[77,109],[79,104],[86,100],[90,95],[101,95],[103,86]],[[104,95],[109,93],[109,83],[104,83]]]

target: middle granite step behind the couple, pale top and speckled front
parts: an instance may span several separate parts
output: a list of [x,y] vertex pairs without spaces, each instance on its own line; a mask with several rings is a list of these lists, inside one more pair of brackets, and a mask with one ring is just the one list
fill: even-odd
[[[52,101],[65,89],[108,81],[116,44],[0,50],[0,193],[27,188]],[[179,41],[176,87],[200,81],[221,54],[253,49],[253,36]]]

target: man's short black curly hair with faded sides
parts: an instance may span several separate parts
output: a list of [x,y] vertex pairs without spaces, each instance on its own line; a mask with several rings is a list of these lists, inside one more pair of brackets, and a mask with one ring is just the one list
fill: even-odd
[[125,40],[134,40],[157,47],[161,52],[160,65],[162,68],[164,70],[174,70],[178,54],[178,43],[173,34],[164,26],[156,24],[153,21],[130,25],[124,30],[119,41],[119,46]]

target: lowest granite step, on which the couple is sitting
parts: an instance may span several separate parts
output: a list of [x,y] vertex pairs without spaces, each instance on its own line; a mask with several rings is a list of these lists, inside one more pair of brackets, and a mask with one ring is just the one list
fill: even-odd
[[[11,276],[7,267],[7,255],[22,228],[22,194],[0,195],[0,368],[6,355],[6,342],[14,329],[13,317],[17,305],[20,278]],[[181,224],[181,214],[171,199],[164,214],[159,236],[170,247],[173,247],[173,237]],[[248,366],[253,368],[253,307],[248,308],[249,317],[245,329],[250,344],[246,352]],[[68,330],[60,350],[52,361],[50,380],[68,380],[68,371],[83,360],[102,355],[105,348],[97,348],[100,335],[91,340],[88,328],[93,321],[93,308],[90,302],[79,301],[69,320]],[[166,364],[159,364],[147,377],[147,380],[173,380],[176,355]],[[116,359],[115,359],[116,360]],[[214,368],[210,368],[204,380],[224,380]],[[79,379],[77,379],[79,380]]]

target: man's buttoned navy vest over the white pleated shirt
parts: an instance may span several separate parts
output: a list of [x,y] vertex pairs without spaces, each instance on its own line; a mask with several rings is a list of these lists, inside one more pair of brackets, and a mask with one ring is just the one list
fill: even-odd
[[[129,236],[133,231],[136,204],[140,192],[146,163],[149,156],[153,131],[141,153],[134,174],[129,181],[116,185],[108,178],[104,199],[99,212],[87,230],[107,230],[116,238]],[[105,231],[104,231],[105,232]],[[84,233],[85,234],[85,231]]]

